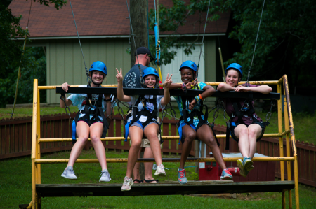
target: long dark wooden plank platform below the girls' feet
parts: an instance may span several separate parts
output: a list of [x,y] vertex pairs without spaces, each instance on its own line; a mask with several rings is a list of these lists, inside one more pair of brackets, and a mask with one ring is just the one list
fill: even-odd
[[201,181],[164,184],[135,184],[131,191],[121,192],[121,184],[36,185],[37,193],[46,196],[147,196],[173,194],[219,194],[242,192],[282,192],[294,189],[294,181],[232,182]]

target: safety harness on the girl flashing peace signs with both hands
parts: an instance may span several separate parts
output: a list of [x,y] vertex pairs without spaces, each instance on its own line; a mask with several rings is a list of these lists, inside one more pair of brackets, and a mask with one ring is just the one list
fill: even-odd
[[[148,108],[148,105],[152,103],[153,107]],[[140,107],[142,107],[140,109]],[[152,110],[152,112],[150,111]],[[145,116],[147,117],[145,122],[140,122],[143,127],[146,127],[147,124],[150,122],[155,122],[159,126],[159,132],[161,132],[160,124],[158,122],[158,107],[157,107],[157,96],[151,96],[149,95],[148,98],[145,98],[145,95],[140,95],[136,101],[136,103],[133,106],[133,111],[129,115],[127,115],[126,120],[129,119],[129,117],[132,117],[131,122],[127,122],[125,125],[125,141],[127,141],[127,137],[129,136],[129,127],[131,127],[131,124],[134,122],[139,122],[140,117]],[[162,143],[162,138],[160,137],[160,143]]]

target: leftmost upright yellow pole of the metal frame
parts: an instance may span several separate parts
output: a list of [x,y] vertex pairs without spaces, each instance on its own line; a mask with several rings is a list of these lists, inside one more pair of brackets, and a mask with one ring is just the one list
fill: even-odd
[[38,90],[38,82],[37,79],[34,79],[34,87],[33,87],[33,116],[32,116],[32,208],[35,209],[37,206],[37,192],[35,185],[37,183],[36,179],[36,165],[35,159],[37,158],[37,91]]

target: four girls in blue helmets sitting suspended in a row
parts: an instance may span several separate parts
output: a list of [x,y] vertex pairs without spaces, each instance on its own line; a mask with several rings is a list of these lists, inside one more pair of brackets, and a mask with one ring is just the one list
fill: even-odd
[[[138,150],[140,149],[140,144],[143,137],[147,137],[150,141],[150,147],[152,154],[154,155],[154,160],[157,164],[157,170],[154,175],[166,176],[165,168],[162,165],[162,154],[161,154],[161,145],[158,138],[159,131],[159,109],[164,109],[166,104],[170,101],[170,89],[183,89],[184,92],[187,89],[199,89],[203,90],[202,94],[199,96],[190,97],[190,96],[174,96],[178,103],[178,108],[180,110],[180,121],[178,132],[180,136],[180,142],[183,143],[182,154],[180,159],[180,166],[178,168],[178,182],[180,184],[187,183],[186,173],[185,173],[185,161],[190,153],[192,142],[196,138],[202,140],[207,146],[209,146],[213,152],[213,156],[218,162],[220,168],[223,172],[221,173],[221,180],[232,180],[232,174],[228,171],[225,166],[222,154],[218,147],[218,142],[213,134],[209,122],[204,118],[202,110],[200,109],[203,106],[203,101],[206,97],[211,96],[215,89],[213,87],[206,85],[203,82],[197,82],[196,72],[197,65],[192,61],[185,61],[180,66],[180,75],[182,84],[172,83],[171,77],[169,74],[166,76],[164,81],[164,95],[163,96],[154,96],[154,95],[139,95],[141,92],[136,92],[136,95],[127,96],[124,95],[123,85],[122,85],[122,72],[117,70],[117,99],[119,101],[126,101],[132,103],[132,115],[127,120],[128,129],[126,129],[126,137],[129,136],[131,139],[131,147],[129,150],[129,157],[127,163],[126,176],[124,178],[123,186],[121,187],[122,191],[128,191],[133,185],[133,179],[131,178],[133,168],[136,164],[138,158]],[[91,87],[100,87],[105,76],[106,76],[106,66],[103,62],[94,62],[89,69],[89,75],[91,78]],[[143,70],[143,87],[144,88],[155,88],[156,84],[159,83],[159,74],[158,72],[150,67],[147,67]],[[236,91],[236,92],[261,92],[263,94],[268,94],[272,89],[266,85],[256,86],[251,85],[250,87],[245,87],[244,85],[238,85],[238,82],[242,79],[242,66],[239,64],[230,64],[225,70],[225,83],[218,85],[218,90],[221,92],[225,91]],[[67,92],[68,85],[67,83],[62,84],[62,89]],[[88,87],[84,85],[81,87]],[[93,94],[92,94],[93,95]],[[100,182],[110,181],[110,174],[107,171],[107,164],[105,158],[105,148],[100,138],[103,136],[104,126],[106,123],[105,129],[108,128],[108,123],[112,115],[112,106],[110,95],[103,95],[102,99],[102,110],[103,113],[107,115],[107,121],[105,117],[101,115],[96,116],[96,112],[100,114],[100,111],[96,111],[96,103],[100,101],[101,94],[95,94],[89,100],[90,105],[90,117],[86,117],[83,114],[84,106],[86,104],[87,95],[86,94],[72,94],[65,100],[65,103],[60,100],[60,106],[64,107],[65,105],[77,105],[79,108],[79,117],[77,120],[76,134],[78,137],[77,143],[74,144],[72,152],[70,153],[70,159],[68,162],[65,171],[62,173],[62,177],[77,180],[77,176],[74,174],[73,165],[74,161],[77,160],[81,150],[84,145],[88,142],[88,137],[90,136],[93,147],[96,151],[96,156],[100,162],[102,171]],[[239,118],[236,115],[236,111],[233,108],[232,103],[238,103],[238,106],[243,106],[244,101],[242,99],[235,99],[231,101],[230,99],[223,99],[225,109],[230,115],[230,122],[234,124],[233,131],[234,139],[239,140],[239,150],[242,153],[243,159],[237,161],[237,166],[240,168],[240,173],[243,176],[246,176],[251,169],[254,168],[253,162],[251,159],[254,157],[256,151],[256,140],[263,131],[262,120],[253,112],[254,115],[242,115],[242,118]],[[94,104],[93,104],[94,103]],[[100,102],[99,102],[100,106]],[[249,104],[253,109],[253,103]],[[100,109],[100,108],[99,108]],[[238,111],[238,110],[237,110]],[[90,120],[87,120],[90,118]],[[253,120],[256,118],[256,120]],[[232,134],[233,135],[233,134]]]

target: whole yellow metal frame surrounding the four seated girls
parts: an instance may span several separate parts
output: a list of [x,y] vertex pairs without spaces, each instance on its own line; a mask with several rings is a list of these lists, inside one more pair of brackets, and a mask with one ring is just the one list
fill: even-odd
[[[221,82],[206,82],[207,85],[218,86]],[[244,82],[240,82],[243,84]],[[281,180],[284,181],[284,161],[287,163],[287,180],[291,180],[291,161],[294,161],[294,182],[295,182],[295,203],[296,208],[299,208],[299,195],[298,195],[298,161],[297,161],[297,152],[296,152],[296,140],[294,134],[294,124],[291,111],[291,102],[289,99],[289,83],[287,80],[287,75],[284,75],[279,80],[272,81],[254,81],[250,82],[255,85],[277,85],[277,93],[282,95],[282,88],[284,89],[284,103],[281,99],[277,101],[277,114],[278,114],[278,134],[264,134],[263,137],[279,137],[279,157],[254,157],[253,161],[279,161],[281,167]],[[74,86],[76,87],[76,86]],[[103,87],[117,87],[117,85],[103,85]],[[34,79],[34,92],[33,92],[33,119],[32,119],[32,202],[29,203],[29,208],[39,208],[41,203],[41,197],[37,194],[35,185],[41,183],[41,164],[59,164],[67,163],[68,159],[41,159],[40,152],[40,143],[44,142],[60,142],[60,141],[71,141],[72,138],[41,138],[40,133],[40,106],[39,106],[39,91],[47,89],[56,89],[56,86],[38,86],[37,79]],[[282,120],[282,106],[284,106],[284,127],[283,131],[283,120]],[[218,138],[225,138],[225,134],[216,135]],[[283,136],[286,137],[287,145],[287,157],[284,157],[283,150]],[[177,140],[179,136],[162,136],[164,140]],[[101,140],[105,141],[114,141],[114,140],[124,140],[124,137],[107,137],[102,138]],[[290,153],[290,141],[293,147],[293,156],[291,157]],[[234,158],[224,158],[224,161],[237,161],[240,159],[238,157]],[[178,162],[178,160],[174,160]],[[214,158],[201,158],[195,160],[187,161],[216,161]],[[77,159],[77,163],[98,163],[98,159]],[[108,163],[124,163],[127,162],[127,159],[107,159]],[[144,160],[142,160],[144,162]],[[282,192],[282,208],[285,208],[285,192]],[[292,197],[291,190],[289,193],[289,208],[292,208]]]

